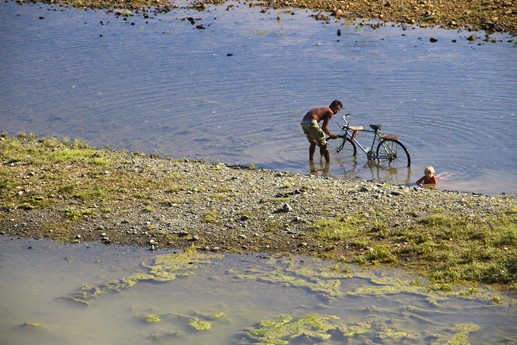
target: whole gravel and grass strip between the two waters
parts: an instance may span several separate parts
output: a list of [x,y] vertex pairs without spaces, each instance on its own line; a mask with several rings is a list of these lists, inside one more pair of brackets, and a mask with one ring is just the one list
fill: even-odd
[[[507,255],[506,278],[492,283],[517,281],[514,197],[18,141],[0,141],[2,235],[151,250],[299,254],[423,274],[440,261],[426,259],[433,247],[463,253],[480,241]],[[13,145],[16,150],[9,150]],[[39,161],[34,152],[42,146],[46,153],[39,155],[49,156]],[[57,154],[63,150],[71,157]],[[501,219],[505,223],[498,224]],[[502,238],[488,243],[485,229]]]

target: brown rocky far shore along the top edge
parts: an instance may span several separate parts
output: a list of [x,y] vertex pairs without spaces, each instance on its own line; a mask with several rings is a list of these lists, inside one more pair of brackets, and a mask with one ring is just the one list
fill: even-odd
[[[23,4],[24,0],[17,0]],[[517,34],[517,4],[510,0],[487,1],[440,1],[440,0],[386,0],[386,1],[340,1],[340,0],[289,0],[262,1],[242,0],[239,2],[226,0],[192,0],[177,2],[174,0],[33,0],[59,6],[73,6],[86,9],[125,9],[115,11],[122,16],[143,15],[148,17],[159,13],[167,13],[178,7],[191,7],[199,11],[207,9],[208,4],[224,5],[229,10],[235,4],[267,9],[309,9],[316,11],[314,17],[321,21],[356,21],[362,19],[364,25],[370,21],[372,27],[397,23],[404,27],[439,26],[445,29],[464,29],[469,31],[485,31],[493,33]],[[293,12],[294,14],[294,12]]]

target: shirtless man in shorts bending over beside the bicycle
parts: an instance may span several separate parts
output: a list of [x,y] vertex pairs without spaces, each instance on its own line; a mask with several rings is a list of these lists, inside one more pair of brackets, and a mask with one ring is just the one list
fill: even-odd
[[[314,151],[316,150],[316,145],[320,147],[320,153],[327,163],[330,162],[330,154],[327,147],[327,140],[325,140],[325,133],[329,135],[330,138],[336,139],[337,135],[330,132],[328,129],[328,124],[332,116],[337,114],[341,108],[343,108],[343,103],[338,100],[332,101],[330,106],[323,108],[314,108],[309,110],[307,114],[303,117],[301,126],[303,128],[303,132],[307,136],[307,140],[311,143],[309,146],[309,161],[314,161]],[[319,122],[323,121],[323,124],[319,125]]]

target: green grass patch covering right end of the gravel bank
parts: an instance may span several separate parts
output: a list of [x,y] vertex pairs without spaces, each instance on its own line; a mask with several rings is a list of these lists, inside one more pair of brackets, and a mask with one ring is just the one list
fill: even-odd
[[431,281],[450,284],[480,281],[517,282],[517,209],[490,217],[448,213],[437,209],[411,226],[375,225],[360,214],[325,218],[312,230],[324,241],[342,241],[357,263],[400,263],[428,272]]

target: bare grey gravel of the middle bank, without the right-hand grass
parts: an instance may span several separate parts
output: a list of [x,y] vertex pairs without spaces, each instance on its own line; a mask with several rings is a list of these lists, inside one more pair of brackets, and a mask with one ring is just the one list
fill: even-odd
[[[9,174],[23,177],[26,185],[17,186],[16,191],[20,197],[34,200],[35,206],[24,207],[22,203],[21,207],[4,207],[2,233],[150,248],[194,245],[203,250],[312,254],[344,246],[336,243],[329,247],[311,236],[310,225],[325,217],[362,214],[372,218],[372,227],[378,223],[410,227],[436,209],[474,219],[517,206],[512,197],[344,181],[132,153],[104,154],[112,159],[117,156],[119,165],[100,173],[73,164],[57,163],[52,169],[66,171],[61,186],[80,183],[87,174],[92,174],[89,177],[98,186],[112,183],[109,187],[114,189],[108,193],[123,193],[114,200],[101,195],[62,195],[60,190],[66,187],[47,190],[49,167],[3,162]],[[133,188],[117,185],[117,175],[122,173],[127,175],[124,181],[142,183]],[[52,206],[37,206],[46,198],[55,199]],[[91,212],[71,221],[67,210],[72,208]],[[46,226],[58,223],[66,224],[69,231]]]

